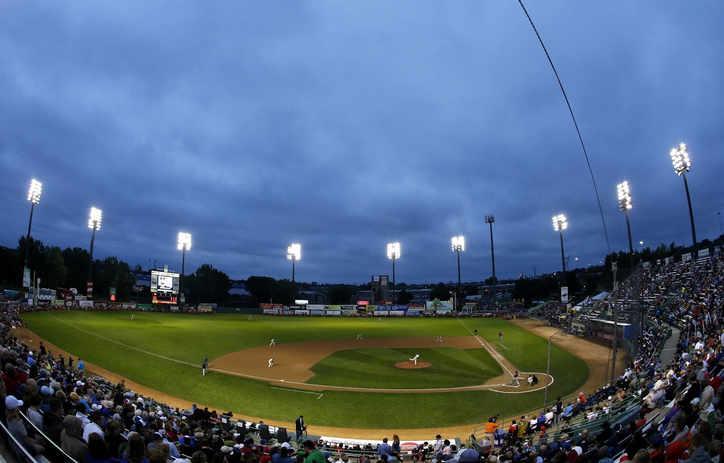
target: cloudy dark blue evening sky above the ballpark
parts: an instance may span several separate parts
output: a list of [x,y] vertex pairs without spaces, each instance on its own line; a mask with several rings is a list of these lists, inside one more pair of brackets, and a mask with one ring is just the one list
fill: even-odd
[[[724,3],[528,1],[576,114],[611,250],[691,244],[724,211]],[[607,253],[586,160],[517,1],[0,2],[0,245],[33,237],[232,279],[457,279]],[[576,262],[574,259],[578,258]]]

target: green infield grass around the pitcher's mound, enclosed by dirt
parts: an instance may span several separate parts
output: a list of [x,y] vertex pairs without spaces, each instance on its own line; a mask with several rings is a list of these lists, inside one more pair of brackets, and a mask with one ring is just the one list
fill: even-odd
[[[400,361],[420,354],[427,368],[401,369]],[[350,349],[317,362],[307,383],[358,388],[452,388],[475,386],[502,374],[485,349]]]

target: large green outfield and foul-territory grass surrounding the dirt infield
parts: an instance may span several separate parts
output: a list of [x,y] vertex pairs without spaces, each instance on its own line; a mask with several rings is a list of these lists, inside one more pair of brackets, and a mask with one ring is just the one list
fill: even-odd
[[[212,409],[292,422],[303,414],[311,425],[339,428],[433,428],[476,424],[494,413],[512,414],[542,403],[543,392],[497,394],[369,393],[327,391],[313,394],[272,389],[269,383],[212,373],[202,378],[198,365],[248,347],[325,339],[418,336],[480,336],[500,345],[517,368],[542,372],[547,340],[497,318],[306,318],[245,315],[190,315],[59,311],[25,314],[28,327],[43,339],[149,388]],[[497,341],[498,331],[505,334]],[[588,378],[584,360],[552,347],[549,396],[570,394]],[[164,358],[167,357],[167,358]],[[184,362],[188,362],[184,363]],[[384,410],[381,413],[380,410]],[[312,428],[313,429],[313,428]]]

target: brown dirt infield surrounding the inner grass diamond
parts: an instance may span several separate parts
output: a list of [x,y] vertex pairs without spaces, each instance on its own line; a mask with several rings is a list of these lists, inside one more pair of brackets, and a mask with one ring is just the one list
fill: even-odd
[[[415,349],[434,347],[453,347],[455,349],[487,349],[489,354],[496,360],[506,373],[495,378],[489,378],[481,384],[473,386],[458,386],[450,388],[355,388],[349,386],[329,386],[314,383],[307,383],[313,379],[314,373],[311,367],[337,350],[379,348],[387,349]],[[274,367],[269,368],[269,358],[274,357]],[[407,360],[407,359],[400,359]],[[424,359],[421,359],[424,360]],[[537,391],[545,387],[545,381],[541,386],[530,388],[525,385],[510,386],[508,382],[514,370],[518,370],[503,357],[493,344],[490,344],[480,336],[461,336],[445,338],[442,343],[432,337],[424,338],[375,338],[333,341],[306,341],[290,344],[277,344],[275,346],[259,346],[251,349],[243,349],[230,354],[222,355],[209,362],[209,369],[230,375],[253,378],[260,381],[269,381],[275,386],[286,386],[309,391],[359,391],[359,392],[452,392],[452,391],[474,391],[490,389],[495,392],[507,394],[522,394],[524,392]],[[535,373],[542,378],[545,373],[521,372],[523,374]],[[525,381],[523,381],[525,383]],[[550,381],[552,383],[552,381]]]

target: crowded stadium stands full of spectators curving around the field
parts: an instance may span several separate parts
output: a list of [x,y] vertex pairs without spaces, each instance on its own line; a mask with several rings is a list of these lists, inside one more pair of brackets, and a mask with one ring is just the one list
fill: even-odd
[[[478,461],[489,463],[610,463],[609,457],[646,463],[640,451],[656,463],[686,460],[685,451],[694,458],[692,463],[718,462],[724,437],[723,281],[722,255],[639,268],[616,296],[577,315],[583,320],[593,311],[605,313],[616,297],[616,306],[632,316],[630,307],[639,296],[644,301],[639,336],[632,341],[636,355],[623,373],[592,391],[562,398],[559,415],[564,419],[560,422],[554,401],[494,423],[500,425],[498,430],[489,423],[476,426],[464,445],[482,450]],[[560,309],[538,307],[537,315],[557,320]],[[17,313],[7,311],[1,321],[4,381],[0,395],[7,398],[7,408],[17,404],[23,423],[19,428],[4,420],[1,428],[19,461],[143,463],[148,458],[153,463],[182,463],[179,458],[188,458],[193,463],[277,463],[279,457],[274,454],[290,441],[292,460],[301,458],[296,455],[299,443],[290,439],[285,428],[196,407],[174,409],[128,391],[122,383],[86,378],[49,352],[31,357],[7,329],[11,323],[22,323]],[[678,339],[666,344],[672,333]],[[6,417],[9,413],[5,412]],[[514,426],[514,419],[524,425]],[[103,439],[88,438],[86,443],[82,436],[75,436],[77,422],[88,430],[98,423]],[[300,441],[314,437],[302,436]],[[38,454],[33,442],[45,450]],[[343,462],[344,455],[366,463],[376,454],[374,446],[319,440],[316,445],[331,462]],[[463,443],[450,446],[451,456],[458,446]],[[417,449],[415,454],[417,461],[445,459],[432,449]],[[460,457],[469,462],[471,453],[464,458]]]

